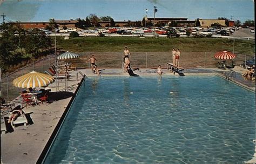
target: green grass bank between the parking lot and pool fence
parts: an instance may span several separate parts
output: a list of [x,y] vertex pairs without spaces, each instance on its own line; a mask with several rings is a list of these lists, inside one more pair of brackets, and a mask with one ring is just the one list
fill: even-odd
[[[54,39],[54,38],[52,38]],[[53,42],[54,43],[54,42]],[[181,52],[233,51],[233,40],[226,38],[138,38],[138,37],[57,37],[58,50],[71,52],[167,52],[173,47]],[[254,56],[252,40],[235,40],[234,51]]]

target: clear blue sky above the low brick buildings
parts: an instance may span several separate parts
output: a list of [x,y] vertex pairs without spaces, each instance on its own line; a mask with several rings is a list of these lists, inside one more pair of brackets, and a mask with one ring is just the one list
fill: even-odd
[[90,13],[135,21],[153,17],[153,6],[158,9],[156,17],[254,20],[253,0],[0,0],[0,13],[6,15],[5,21],[21,22],[85,19]]

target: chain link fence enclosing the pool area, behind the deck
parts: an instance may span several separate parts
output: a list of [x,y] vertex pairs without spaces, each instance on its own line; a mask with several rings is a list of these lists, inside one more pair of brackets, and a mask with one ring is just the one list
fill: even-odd
[[[214,59],[216,52],[181,52],[179,65],[184,69],[193,67],[218,67],[218,61]],[[90,69],[90,62],[87,61],[92,54],[96,57],[97,66],[102,69],[123,69],[123,52],[83,52],[77,53],[79,58],[69,60],[70,63],[75,64],[78,69]],[[237,53],[235,53],[237,54]],[[41,60],[36,61],[33,64],[23,67],[8,76],[2,77],[0,81],[2,97],[5,100],[14,100],[22,88],[12,85],[12,81],[22,76],[25,73],[29,73],[32,70],[37,72],[44,72],[48,70],[51,65],[55,64],[55,55],[52,54]],[[237,58],[234,59],[234,65],[243,66],[243,62],[251,60],[252,56],[246,54],[237,54]],[[167,63],[173,63],[171,52],[131,52],[131,67],[139,67],[146,69],[156,69],[158,65],[166,67]],[[232,65],[232,60],[226,60],[227,65]]]

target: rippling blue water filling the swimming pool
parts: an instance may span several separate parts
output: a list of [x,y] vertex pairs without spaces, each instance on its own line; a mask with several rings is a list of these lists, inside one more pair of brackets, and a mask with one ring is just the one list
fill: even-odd
[[241,163],[254,108],[215,76],[87,78],[45,163]]

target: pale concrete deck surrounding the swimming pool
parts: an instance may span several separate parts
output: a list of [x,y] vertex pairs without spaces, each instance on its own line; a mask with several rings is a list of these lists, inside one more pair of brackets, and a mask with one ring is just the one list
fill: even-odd
[[[51,89],[50,103],[43,103],[38,106],[24,107],[23,111],[27,113],[29,118],[29,125],[17,126],[14,129],[10,125],[7,126],[8,132],[1,134],[1,162],[2,163],[36,163],[41,156],[42,152],[48,140],[59,120],[65,114],[65,109],[69,105],[75,91],[77,90],[78,83],[82,79],[77,72],[81,71],[88,77],[97,76],[93,74],[90,69],[72,71],[71,77],[68,81],[68,90],[65,92],[63,89],[65,86],[64,80],[59,82],[60,92],[56,92],[56,83],[48,86]],[[185,76],[193,75],[213,75],[216,73],[222,73],[229,70],[220,69],[185,69]],[[247,86],[251,90],[254,88],[255,83],[253,81],[245,80],[240,73],[244,70],[236,71],[236,80],[244,86]],[[140,69],[134,71],[134,73],[140,76],[158,76],[156,69]],[[106,69],[103,71],[102,76],[129,76],[121,69]],[[173,74],[170,71],[164,70],[164,76],[179,76],[177,73]],[[19,105],[20,100],[16,99],[16,106]],[[5,115],[5,120],[8,119],[8,115]],[[6,121],[7,124],[7,121]],[[256,161],[255,161],[256,162]]]

